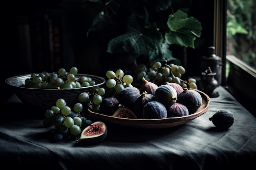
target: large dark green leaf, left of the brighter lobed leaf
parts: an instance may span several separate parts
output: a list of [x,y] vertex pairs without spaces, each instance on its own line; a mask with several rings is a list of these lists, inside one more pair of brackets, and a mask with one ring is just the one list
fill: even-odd
[[107,52],[148,55],[150,51],[155,51],[163,41],[162,33],[157,31],[154,25],[141,28],[135,16],[132,15],[128,21],[126,33],[110,40]]

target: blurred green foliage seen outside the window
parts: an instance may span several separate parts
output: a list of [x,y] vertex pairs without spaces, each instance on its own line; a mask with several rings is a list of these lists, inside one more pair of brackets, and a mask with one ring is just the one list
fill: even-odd
[[256,0],[227,0],[227,55],[256,69]]

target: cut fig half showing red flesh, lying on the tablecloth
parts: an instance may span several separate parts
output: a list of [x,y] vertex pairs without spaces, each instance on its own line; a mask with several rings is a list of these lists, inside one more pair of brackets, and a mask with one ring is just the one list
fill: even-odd
[[81,136],[76,143],[80,141],[86,141],[90,143],[99,143],[103,141],[108,134],[108,128],[102,121],[95,121],[87,126],[81,132]]

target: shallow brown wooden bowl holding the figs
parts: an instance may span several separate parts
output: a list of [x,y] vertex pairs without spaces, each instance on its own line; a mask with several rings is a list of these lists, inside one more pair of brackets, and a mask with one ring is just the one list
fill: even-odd
[[211,101],[210,97],[202,91],[195,91],[198,91],[198,93],[200,93],[202,96],[202,104],[198,110],[188,116],[167,117],[164,119],[128,119],[95,113],[90,107],[88,108],[88,116],[101,121],[108,121],[121,126],[129,126],[134,128],[171,128],[185,124],[207,112]]

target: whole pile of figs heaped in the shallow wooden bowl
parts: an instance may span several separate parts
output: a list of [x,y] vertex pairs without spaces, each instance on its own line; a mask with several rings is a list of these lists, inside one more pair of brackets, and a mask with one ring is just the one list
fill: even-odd
[[140,88],[128,86],[118,95],[104,98],[99,113],[128,119],[163,119],[193,114],[202,104],[200,93],[194,89],[176,83],[157,86],[142,80]]

